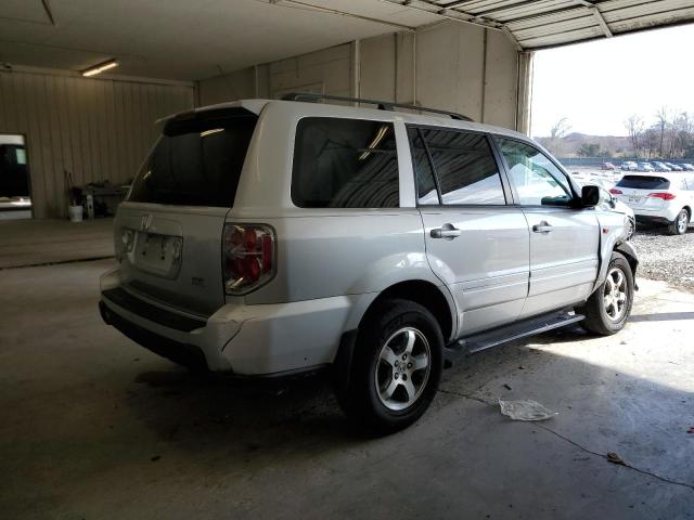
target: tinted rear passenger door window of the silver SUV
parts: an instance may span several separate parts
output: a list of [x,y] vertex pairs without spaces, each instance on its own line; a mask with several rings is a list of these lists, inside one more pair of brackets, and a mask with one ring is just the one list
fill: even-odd
[[[420,128],[419,134],[430,155],[444,205],[506,204],[499,168],[485,134],[438,128]],[[413,148],[420,204],[423,198],[426,203],[429,199],[434,203],[430,191],[427,191],[432,182],[427,180],[425,167],[420,166],[416,139]],[[423,186],[426,193],[422,192]]]

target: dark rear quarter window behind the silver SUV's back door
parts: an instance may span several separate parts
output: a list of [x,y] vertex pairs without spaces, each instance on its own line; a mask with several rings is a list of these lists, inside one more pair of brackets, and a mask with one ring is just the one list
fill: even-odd
[[397,208],[391,123],[306,117],[296,128],[292,200],[300,208]]

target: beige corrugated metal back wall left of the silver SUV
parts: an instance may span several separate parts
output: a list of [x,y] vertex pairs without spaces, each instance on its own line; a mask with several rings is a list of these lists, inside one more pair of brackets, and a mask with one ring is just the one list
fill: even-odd
[[26,136],[36,218],[64,217],[64,170],[77,185],[130,179],[154,120],[193,107],[193,87],[0,73],[0,133]]

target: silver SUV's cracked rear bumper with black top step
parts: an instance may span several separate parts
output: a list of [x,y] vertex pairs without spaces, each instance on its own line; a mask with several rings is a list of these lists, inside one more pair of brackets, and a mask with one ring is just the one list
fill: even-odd
[[332,363],[343,332],[355,328],[360,311],[376,296],[226,304],[190,329],[142,312],[132,302],[114,301],[111,289],[113,284],[102,280],[102,317],[133,341],[183,365],[248,376],[310,370]]

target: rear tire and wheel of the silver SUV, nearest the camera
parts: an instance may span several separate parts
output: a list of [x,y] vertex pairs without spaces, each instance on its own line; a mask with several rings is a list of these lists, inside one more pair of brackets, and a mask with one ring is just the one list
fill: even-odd
[[386,300],[360,325],[337,400],[370,432],[391,433],[426,412],[442,368],[444,337],[432,313],[412,301]]

